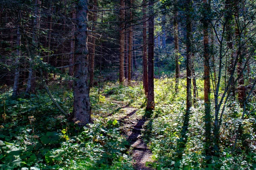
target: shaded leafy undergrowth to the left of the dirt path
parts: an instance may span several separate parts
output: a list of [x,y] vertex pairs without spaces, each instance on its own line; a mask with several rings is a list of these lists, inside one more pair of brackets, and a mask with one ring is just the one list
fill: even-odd
[[[51,89],[64,111],[71,113],[73,92]],[[91,102],[105,102],[96,100]],[[94,115],[93,124],[79,127],[61,115],[44,90],[30,99],[14,100],[11,91],[1,94],[0,113],[0,169],[133,169],[128,143],[115,119]]]

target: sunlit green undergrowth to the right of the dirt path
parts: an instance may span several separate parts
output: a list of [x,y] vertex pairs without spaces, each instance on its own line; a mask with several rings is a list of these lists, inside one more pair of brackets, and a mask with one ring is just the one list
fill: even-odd
[[[198,96],[189,114],[187,139],[181,137],[183,117],[186,113],[186,80],[180,79],[178,94],[175,79],[155,80],[155,110],[143,133],[145,142],[152,150],[153,167],[157,170],[195,169],[255,169],[256,168],[256,121],[254,113],[241,120],[242,109],[230,100],[224,111],[220,130],[219,155],[207,163],[204,129],[204,80],[197,79]],[[193,90],[192,90],[193,92]],[[213,100],[213,95],[212,95]],[[213,103],[213,102],[212,102]],[[251,99],[248,109],[255,108]],[[214,117],[212,106],[212,118]],[[250,110],[249,110],[250,111]],[[236,131],[241,123],[243,135],[239,136],[236,150],[232,152]],[[213,119],[212,119],[213,127]],[[179,148],[179,143],[185,143]],[[182,151],[181,159],[179,157]]]

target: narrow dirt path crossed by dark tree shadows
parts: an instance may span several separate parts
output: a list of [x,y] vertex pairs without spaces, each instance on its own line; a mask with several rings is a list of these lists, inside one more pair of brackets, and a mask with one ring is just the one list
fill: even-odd
[[[118,101],[112,101],[121,104]],[[122,105],[122,104],[121,104]],[[147,143],[143,141],[142,131],[148,121],[145,117],[137,113],[138,108],[131,107],[129,104],[119,107],[118,112],[108,115],[118,120],[121,124],[122,134],[129,142],[129,153],[134,161],[135,170],[153,170],[149,167],[152,162],[152,152]]]

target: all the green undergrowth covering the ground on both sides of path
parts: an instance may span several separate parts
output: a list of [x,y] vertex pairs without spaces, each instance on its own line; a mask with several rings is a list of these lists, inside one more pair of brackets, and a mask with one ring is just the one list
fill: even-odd
[[[180,79],[178,94],[175,80],[155,79],[155,110],[143,130],[143,140],[152,151],[157,170],[255,169],[256,116],[255,96],[247,105],[250,115],[241,120],[242,109],[230,99],[223,115],[219,137],[219,155],[211,163],[205,156],[204,80],[197,79],[198,96],[193,98],[185,148],[178,143],[186,112],[186,80]],[[51,85],[50,90],[66,113],[72,113],[73,94]],[[128,142],[116,119],[110,118],[125,106],[140,108],[145,114],[146,99],[141,83],[118,85],[104,82],[90,89],[93,124],[79,127],[68,121],[52,104],[44,90],[31,99],[11,98],[12,91],[0,95],[0,168],[4,170],[78,169],[132,170]],[[212,97],[212,96],[211,96]],[[213,97],[211,98],[213,100]],[[212,106],[213,117],[214,106]],[[242,135],[232,152],[237,129]],[[178,156],[182,149],[183,155]]]

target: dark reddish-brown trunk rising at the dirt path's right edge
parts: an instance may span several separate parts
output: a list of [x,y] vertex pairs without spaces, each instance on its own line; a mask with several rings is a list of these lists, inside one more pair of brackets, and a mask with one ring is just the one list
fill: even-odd
[[148,17],[148,103],[146,111],[154,110],[154,0],[149,1]]

